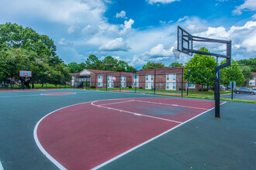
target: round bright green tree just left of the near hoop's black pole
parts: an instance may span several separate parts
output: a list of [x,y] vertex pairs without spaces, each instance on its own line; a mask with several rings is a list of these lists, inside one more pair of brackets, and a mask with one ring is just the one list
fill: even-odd
[[[199,51],[209,53],[205,47],[200,48]],[[189,82],[201,84],[202,87],[204,85],[209,87],[214,84],[215,66],[216,59],[213,56],[195,54],[185,65],[184,78]]]

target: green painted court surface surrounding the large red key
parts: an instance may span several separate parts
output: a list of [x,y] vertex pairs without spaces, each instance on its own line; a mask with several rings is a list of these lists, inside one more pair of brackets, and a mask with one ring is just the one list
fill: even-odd
[[[33,138],[36,123],[50,112],[83,102],[137,97],[160,96],[92,90],[1,92],[0,169],[58,169]],[[101,169],[256,169],[256,104],[228,101],[220,109],[222,119],[209,110]]]

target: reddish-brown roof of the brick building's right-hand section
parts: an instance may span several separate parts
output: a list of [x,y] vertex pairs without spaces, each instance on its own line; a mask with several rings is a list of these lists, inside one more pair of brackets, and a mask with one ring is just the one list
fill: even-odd
[[156,74],[182,73],[182,69],[184,69],[184,67],[147,69],[147,70],[138,71],[137,75],[154,74],[154,73],[156,73]]

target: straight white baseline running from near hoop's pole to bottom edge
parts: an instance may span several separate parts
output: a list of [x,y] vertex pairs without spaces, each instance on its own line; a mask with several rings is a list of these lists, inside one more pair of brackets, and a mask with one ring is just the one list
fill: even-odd
[[[223,104],[226,104],[226,103],[227,103],[227,102],[223,102]],[[222,105],[222,104],[221,104],[221,105]],[[209,110],[213,110],[213,109],[214,109],[214,107],[211,108],[211,109],[209,109]],[[206,111],[202,112],[202,114],[205,114],[205,113],[208,112],[209,110],[206,110]],[[144,143],[142,143],[142,144],[140,144],[140,145],[137,145],[136,147],[131,148],[130,150],[125,151],[125,152],[123,152],[122,154],[117,155],[116,157],[114,157],[114,158],[112,158],[112,159],[109,159],[109,161],[104,162],[104,163],[102,163],[101,165],[98,165],[98,166],[96,166],[95,168],[92,168],[91,170],[95,170],[95,169],[102,168],[103,166],[109,164],[110,162],[113,162],[113,161],[115,161],[116,159],[122,157],[123,155],[126,155],[126,154],[130,153],[131,151],[134,151],[135,149],[140,148],[140,147],[143,146],[143,145],[146,145],[146,144],[149,143],[150,141],[154,141],[156,138],[159,138],[159,137],[161,137],[162,135],[167,134],[168,132],[175,130],[175,128],[178,128],[178,127],[182,126],[183,124],[185,124],[185,123],[187,123],[187,122],[189,122],[189,121],[192,121],[193,119],[195,119],[196,117],[201,116],[202,114],[199,114],[199,115],[197,115],[197,116],[195,116],[195,117],[192,117],[192,118],[189,119],[188,121],[185,121],[185,122],[183,122],[182,124],[178,124],[177,126],[175,126],[174,128],[169,129],[168,131],[164,131],[164,133],[159,134],[159,135],[157,135],[156,137],[151,138],[150,140],[145,141]]]

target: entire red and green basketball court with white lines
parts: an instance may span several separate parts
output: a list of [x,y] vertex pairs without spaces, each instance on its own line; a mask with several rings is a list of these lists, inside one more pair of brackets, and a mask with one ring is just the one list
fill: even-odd
[[213,100],[92,90],[0,98],[0,169],[256,167],[255,104],[222,102],[216,119]]

